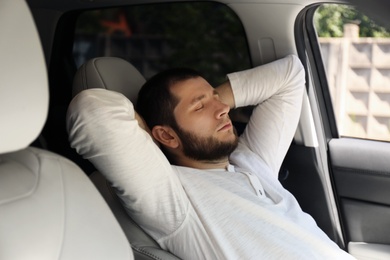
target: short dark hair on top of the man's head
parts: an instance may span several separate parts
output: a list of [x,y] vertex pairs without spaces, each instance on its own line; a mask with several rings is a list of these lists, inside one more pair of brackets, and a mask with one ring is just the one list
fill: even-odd
[[173,110],[179,100],[171,93],[170,88],[180,81],[197,77],[201,75],[193,69],[169,69],[156,74],[141,87],[136,111],[150,129],[156,125],[176,127]]

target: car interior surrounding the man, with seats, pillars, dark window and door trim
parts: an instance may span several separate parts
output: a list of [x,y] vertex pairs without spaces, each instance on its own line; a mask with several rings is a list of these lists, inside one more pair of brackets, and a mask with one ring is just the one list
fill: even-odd
[[[326,3],[351,4],[390,25],[388,3]],[[218,84],[227,73],[288,54],[304,64],[306,92],[279,180],[340,248],[357,259],[389,259],[390,143],[340,134],[313,25],[322,4],[0,0],[0,259],[179,259],[131,219],[110,183],[70,147],[72,98],[104,88],[135,103],[164,68],[199,67]],[[180,13],[185,22],[172,18]],[[238,132],[250,113],[231,112]]]

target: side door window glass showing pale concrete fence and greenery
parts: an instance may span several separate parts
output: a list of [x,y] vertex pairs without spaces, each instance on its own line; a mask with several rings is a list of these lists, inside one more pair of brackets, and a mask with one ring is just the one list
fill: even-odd
[[390,141],[390,33],[351,6],[314,16],[341,136]]

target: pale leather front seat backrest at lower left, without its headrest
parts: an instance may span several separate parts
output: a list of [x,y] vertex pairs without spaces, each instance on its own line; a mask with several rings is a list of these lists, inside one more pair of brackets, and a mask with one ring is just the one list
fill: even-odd
[[88,177],[51,152],[0,155],[0,258],[133,259]]

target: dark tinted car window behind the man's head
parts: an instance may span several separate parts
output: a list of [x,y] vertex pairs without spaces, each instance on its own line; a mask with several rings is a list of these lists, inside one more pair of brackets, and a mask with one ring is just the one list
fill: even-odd
[[251,67],[243,26],[219,3],[169,3],[86,11],[73,47],[77,66],[98,56],[121,57],[147,79],[172,67],[200,71],[212,84]]

